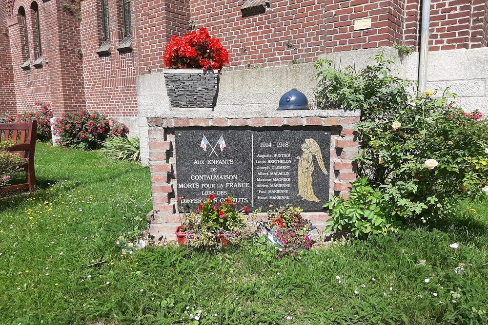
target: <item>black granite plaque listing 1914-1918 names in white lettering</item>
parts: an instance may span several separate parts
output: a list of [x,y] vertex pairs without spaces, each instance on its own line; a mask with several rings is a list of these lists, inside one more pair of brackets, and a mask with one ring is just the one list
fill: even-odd
[[250,210],[292,204],[321,210],[329,199],[330,132],[176,130],[182,203],[233,196]]

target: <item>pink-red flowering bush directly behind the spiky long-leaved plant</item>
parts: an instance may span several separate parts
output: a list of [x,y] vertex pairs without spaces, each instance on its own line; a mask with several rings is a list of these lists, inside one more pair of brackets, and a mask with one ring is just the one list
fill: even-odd
[[61,115],[56,119],[53,130],[60,137],[57,140],[59,145],[85,150],[99,149],[108,136],[126,136],[129,133],[125,124],[88,111]]

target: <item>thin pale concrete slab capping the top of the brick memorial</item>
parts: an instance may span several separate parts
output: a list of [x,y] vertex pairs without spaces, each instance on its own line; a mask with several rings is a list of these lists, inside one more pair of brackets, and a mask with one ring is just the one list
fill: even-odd
[[241,111],[170,111],[158,112],[150,117],[162,118],[255,118],[255,117],[348,117],[360,116],[360,110],[309,110],[309,111],[265,111],[265,112],[241,112]]

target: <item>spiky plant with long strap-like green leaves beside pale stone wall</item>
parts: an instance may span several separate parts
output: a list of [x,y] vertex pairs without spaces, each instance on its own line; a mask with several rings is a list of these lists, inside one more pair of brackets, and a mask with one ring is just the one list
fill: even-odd
[[120,160],[141,160],[139,137],[111,136],[102,142],[101,153]]

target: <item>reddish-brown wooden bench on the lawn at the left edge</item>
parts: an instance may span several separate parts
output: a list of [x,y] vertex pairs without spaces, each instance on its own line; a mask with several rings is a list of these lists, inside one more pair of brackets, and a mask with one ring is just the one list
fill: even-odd
[[14,145],[10,152],[19,153],[25,163],[19,167],[27,173],[27,182],[0,187],[0,191],[29,189],[34,191],[36,173],[34,171],[34,152],[36,151],[37,121],[28,123],[0,123],[0,141],[11,140]]

